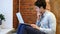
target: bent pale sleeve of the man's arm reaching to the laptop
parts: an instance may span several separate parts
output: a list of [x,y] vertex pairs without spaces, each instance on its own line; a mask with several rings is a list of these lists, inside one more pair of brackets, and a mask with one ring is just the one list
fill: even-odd
[[49,22],[49,28],[42,28],[40,27],[40,30],[45,32],[45,33],[55,33],[56,31],[56,18],[54,15],[51,15],[48,17],[48,22]]

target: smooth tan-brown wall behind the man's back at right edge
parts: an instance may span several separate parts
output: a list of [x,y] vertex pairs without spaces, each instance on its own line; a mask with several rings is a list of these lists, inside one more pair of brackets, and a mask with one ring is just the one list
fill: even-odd
[[50,0],[51,11],[56,15],[57,28],[56,34],[60,34],[60,0]]

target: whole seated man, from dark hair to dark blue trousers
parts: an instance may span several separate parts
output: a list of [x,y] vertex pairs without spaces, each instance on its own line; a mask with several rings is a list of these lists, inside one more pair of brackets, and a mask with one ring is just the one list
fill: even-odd
[[52,12],[46,10],[45,0],[37,0],[34,5],[37,11],[37,22],[36,24],[24,25],[23,29],[21,28],[21,34],[22,32],[26,34],[55,34],[56,18]]

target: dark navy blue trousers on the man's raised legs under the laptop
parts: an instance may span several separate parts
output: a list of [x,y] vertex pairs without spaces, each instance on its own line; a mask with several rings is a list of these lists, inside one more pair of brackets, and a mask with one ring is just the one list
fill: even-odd
[[20,24],[17,29],[17,34],[45,34],[44,32],[33,28],[27,24]]

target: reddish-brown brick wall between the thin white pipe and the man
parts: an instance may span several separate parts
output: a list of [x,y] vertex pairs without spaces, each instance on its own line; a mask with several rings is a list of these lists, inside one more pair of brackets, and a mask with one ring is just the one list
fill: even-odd
[[34,9],[35,0],[20,0],[20,12],[25,23],[35,23],[36,22],[36,11]]

